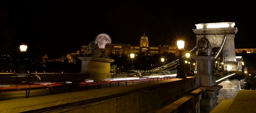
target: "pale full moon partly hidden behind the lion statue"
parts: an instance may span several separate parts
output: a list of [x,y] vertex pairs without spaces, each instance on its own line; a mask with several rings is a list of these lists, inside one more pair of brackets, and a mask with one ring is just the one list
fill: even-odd
[[111,38],[108,34],[99,34],[96,37],[96,43],[99,45],[99,48],[105,48],[105,45],[111,43]]

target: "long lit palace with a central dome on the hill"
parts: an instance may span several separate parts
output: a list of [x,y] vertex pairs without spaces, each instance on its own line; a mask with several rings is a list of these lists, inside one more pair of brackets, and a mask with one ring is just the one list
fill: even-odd
[[[106,44],[104,50],[107,51],[107,55],[110,54],[125,54],[130,55],[130,53],[135,54],[144,54],[144,55],[152,55],[152,54],[163,54],[163,53],[173,53],[177,55],[179,53],[177,51],[176,45],[160,45],[159,47],[150,47],[148,37],[144,34],[140,38],[140,46],[130,46],[130,44],[116,44],[110,43]],[[87,46],[82,46],[81,54],[87,53]]]

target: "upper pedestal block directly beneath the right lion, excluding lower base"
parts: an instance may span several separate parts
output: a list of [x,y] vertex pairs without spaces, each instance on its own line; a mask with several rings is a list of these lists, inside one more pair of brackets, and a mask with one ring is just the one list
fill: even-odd
[[214,76],[214,57],[212,56],[195,56],[196,60],[197,76],[200,78],[200,86],[214,86],[216,85],[216,78]]

